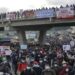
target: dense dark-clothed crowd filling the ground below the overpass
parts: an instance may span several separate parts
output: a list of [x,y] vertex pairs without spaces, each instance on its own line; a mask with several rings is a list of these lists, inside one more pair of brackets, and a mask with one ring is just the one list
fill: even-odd
[[48,43],[30,45],[27,49],[12,47],[10,55],[0,56],[0,73],[75,75],[75,40],[71,34],[56,34],[46,39]]

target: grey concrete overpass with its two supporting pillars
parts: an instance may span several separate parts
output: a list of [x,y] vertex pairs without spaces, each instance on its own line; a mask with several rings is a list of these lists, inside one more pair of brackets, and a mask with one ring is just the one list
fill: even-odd
[[40,31],[39,41],[42,42],[42,38],[46,31],[54,26],[74,26],[75,19],[50,19],[50,18],[38,18],[38,19],[15,19],[15,20],[1,20],[0,29],[6,26],[10,26],[16,30],[19,34],[21,42],[25,41],[25,31]]

